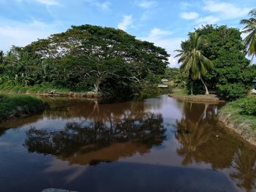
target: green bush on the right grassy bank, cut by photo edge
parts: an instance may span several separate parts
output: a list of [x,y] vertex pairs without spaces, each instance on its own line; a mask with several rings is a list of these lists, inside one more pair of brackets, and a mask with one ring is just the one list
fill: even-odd
[[256,115],[256,97],[243,99],[239,106],[242,115]]

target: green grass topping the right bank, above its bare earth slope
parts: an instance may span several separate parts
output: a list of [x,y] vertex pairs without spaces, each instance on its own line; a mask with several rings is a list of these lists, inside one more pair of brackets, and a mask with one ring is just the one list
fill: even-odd
[[228,116],[228,119],[231,120],[233,123],[240,125],[242,123],[246,124],[247,127],[251,128],[252,131],[256,131],[256,117],[255,115],[243,115],[243,108],[241,107],[245,99],[239,99],[236,101],[231,101],[227,103],[222,109],[220,110],[219,114],[223,116]]

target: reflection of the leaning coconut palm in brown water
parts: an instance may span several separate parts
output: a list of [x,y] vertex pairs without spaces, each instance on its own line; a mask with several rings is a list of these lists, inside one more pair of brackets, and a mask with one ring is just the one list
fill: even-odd
[[195,111],[192,103],[185,104],[183,118],[176,122],[176,139],[181,143],[177,153],[184,156],[182,164],[192,164],[193,159],[200,161],[202,154],[198,148],[211,137],[212,127],[207,120],[215,115],[215,107],[211,107],[211,110],[208,110],[208,104],[196,104],[196,107]]

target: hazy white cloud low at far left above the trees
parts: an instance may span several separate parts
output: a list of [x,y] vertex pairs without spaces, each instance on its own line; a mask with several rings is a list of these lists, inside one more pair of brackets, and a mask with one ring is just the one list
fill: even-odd
[[[9,24],[7,24],[9,23]],[[0,50],[5,52],[12,45],[23,47],[37,39],[46,38],[58,32],[56,24],[45,24],[37,20],[31,23],[17,23],[11,20],[0,23]]]

